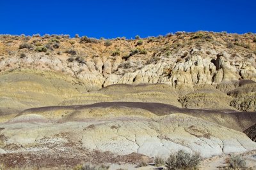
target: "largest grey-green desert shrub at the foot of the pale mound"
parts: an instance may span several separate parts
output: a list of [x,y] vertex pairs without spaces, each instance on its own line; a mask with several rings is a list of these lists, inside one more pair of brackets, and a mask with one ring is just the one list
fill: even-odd
[[199,153],[191,154],[184,152],[184,150],[179,150],[168,157],[166,167],[167,169],[197,169],[200,161]]

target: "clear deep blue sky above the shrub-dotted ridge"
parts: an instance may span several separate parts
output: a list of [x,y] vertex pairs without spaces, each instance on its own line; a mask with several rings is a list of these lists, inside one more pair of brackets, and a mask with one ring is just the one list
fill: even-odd
[[256,32],[256,1],[0,0],[0,34],[133,38],[200,30]]

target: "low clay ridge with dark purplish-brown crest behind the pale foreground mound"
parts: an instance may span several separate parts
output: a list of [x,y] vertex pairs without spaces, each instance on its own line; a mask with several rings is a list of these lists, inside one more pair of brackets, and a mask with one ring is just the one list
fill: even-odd
[[80,117],[81,119],[102,118],[109,117],[109,115],[110,117],[120,117],[122,115],[134,115],[135,117],[148,115],[147,117],[156,117],[173,113],[184,113],[193,117],[202,118],[237,131],[244,131],[256,123],[255,112],[195,110],[178,108],[169,104],[140,102],[106,102],[74,106],[49,106],[24,110],[19,115],[38,114],[53,121],[69,122],[77,120],[76,117]]

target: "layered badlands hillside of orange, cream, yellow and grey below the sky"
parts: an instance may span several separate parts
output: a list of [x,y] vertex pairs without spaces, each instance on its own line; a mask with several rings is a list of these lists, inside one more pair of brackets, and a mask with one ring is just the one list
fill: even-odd
[[256,34],[0,36],[6,169],[132,169],[178,150],[200,153],[199,169],[231,154],[256,169],[255,141]]

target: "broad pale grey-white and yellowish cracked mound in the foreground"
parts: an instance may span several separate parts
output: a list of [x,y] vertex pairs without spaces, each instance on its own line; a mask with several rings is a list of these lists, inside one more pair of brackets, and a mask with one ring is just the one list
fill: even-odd
[[[24,116],[1,124],[3,152],[39,154],[55,144],[56,149],[62,148],[66,152],[70,147],[82,146],[87,150],[108,151],[119,155],[136,152],[150,157],[168,157],[170,153],[182,149],[211,157],[221,153],[256,149],[256,143],[242,132],[182,114],[152,119],[119,117],[80,120],[63,124],[52,124],[44,117],[35,115]],[[24,125],[28,120],[30,123]],[[17,149],[8,147],[11,145],[15,145]]]

